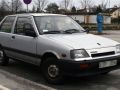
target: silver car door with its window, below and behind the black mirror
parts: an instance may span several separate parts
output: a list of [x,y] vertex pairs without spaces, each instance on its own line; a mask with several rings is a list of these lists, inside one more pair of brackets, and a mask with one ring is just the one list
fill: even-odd
[[30,24],[34,30],[31,16],[22,16],[17,18],[14,33],[11,36],[11,56],[25,62],[36,64],[37,37],[32,37],[25,34],[24,24],[26,23]]

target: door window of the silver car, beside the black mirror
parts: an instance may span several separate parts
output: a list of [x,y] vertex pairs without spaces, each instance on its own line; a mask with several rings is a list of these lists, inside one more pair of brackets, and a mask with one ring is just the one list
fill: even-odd
[[[19,17],[16,22],[14,33],[19,35],[26,35],[25,28],[26,27],[28,28],[28,26],[30,27],[29,30],[34,32],[31,19],[29,17]],[[29,36],[29,35],[26,35],[26,36]]]

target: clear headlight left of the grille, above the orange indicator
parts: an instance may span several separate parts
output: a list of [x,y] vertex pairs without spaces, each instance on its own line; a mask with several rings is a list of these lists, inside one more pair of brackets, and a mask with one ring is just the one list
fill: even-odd
[[70,54],[72,59],[89,57],[88,53],[84,49],[71,50]]

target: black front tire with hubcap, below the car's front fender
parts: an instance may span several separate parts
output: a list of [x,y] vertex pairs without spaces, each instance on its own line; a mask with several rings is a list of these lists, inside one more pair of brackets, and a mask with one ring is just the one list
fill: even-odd
[[63,75],[57,58],[49,57],[42,63],[42,74],[46,81],[50,84],[62,84]]

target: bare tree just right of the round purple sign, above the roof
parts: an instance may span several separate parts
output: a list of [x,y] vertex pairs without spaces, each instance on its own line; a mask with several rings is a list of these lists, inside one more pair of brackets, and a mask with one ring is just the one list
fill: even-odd
[[48,0],[36,0],[35,5],[37,5],[37,12],[43,12],[47,4],[48,4]]

